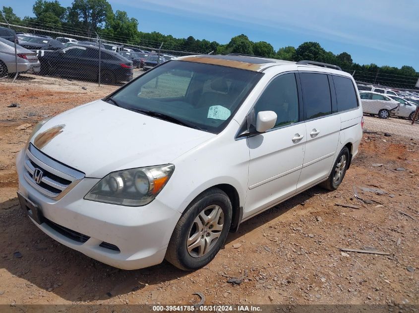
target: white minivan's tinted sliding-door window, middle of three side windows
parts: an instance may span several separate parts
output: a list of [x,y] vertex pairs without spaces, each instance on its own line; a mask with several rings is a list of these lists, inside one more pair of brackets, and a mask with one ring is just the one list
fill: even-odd
[[332,113],[329,80],[326,74],[300,73],[304,120]]

